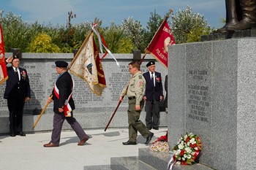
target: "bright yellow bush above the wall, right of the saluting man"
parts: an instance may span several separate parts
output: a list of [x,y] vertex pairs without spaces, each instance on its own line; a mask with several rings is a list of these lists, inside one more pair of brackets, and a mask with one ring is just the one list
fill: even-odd
[[50,36],[40,33],[28,47],[31,53],[60,53],[59,47],[52,43]]

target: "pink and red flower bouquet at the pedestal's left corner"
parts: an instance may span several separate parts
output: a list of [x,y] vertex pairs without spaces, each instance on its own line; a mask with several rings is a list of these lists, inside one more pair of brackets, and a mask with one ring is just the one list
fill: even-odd
[[165,136],[160,136],[155,142],[151,144],[149,150],[157,152],[169,152],[168,138],[166,132]]

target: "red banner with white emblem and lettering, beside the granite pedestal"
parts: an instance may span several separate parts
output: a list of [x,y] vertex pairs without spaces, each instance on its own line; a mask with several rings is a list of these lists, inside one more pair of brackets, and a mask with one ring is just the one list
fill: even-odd
[[175,45],[176,42],[173,38],[172,31],[167,23],[167,18],[162,22],[161,26],[158,28],[156,34],[154,34],[153,39],[146,47],[146,53],[154,56],[160,63],[162,63],[166,68],[168,68],[168,46]]

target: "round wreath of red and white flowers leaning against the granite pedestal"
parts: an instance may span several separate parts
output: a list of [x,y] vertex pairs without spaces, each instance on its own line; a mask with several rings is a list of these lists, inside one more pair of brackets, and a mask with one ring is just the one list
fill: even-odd
[[184,134],[178,139],[178,143],[173,147],[173,159],[177,164],[191,165],[202,150],[200,138],[195,134]]

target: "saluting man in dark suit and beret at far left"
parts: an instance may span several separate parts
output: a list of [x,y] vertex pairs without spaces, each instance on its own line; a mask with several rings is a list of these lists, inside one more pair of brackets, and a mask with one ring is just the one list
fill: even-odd
[[26,69],[20,68],[20,59],[13,55],[7,58],[7,63],[12,66],[7,67],[7,84],[4,91],[4,98],[10,112],[10,136],[26,136],[23,133],[23,108],[26,101],[31,98],[29,77]]

